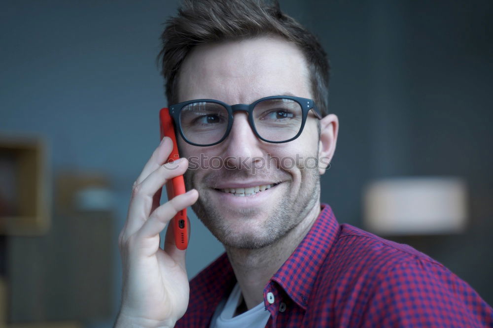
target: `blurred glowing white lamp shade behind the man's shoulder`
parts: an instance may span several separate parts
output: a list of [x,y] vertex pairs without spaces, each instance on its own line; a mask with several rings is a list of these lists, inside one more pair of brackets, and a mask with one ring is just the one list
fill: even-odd
[[467,217],[465,182],[456,177],[374,181],[363,195],[368,230],[386,235],[458,233]]

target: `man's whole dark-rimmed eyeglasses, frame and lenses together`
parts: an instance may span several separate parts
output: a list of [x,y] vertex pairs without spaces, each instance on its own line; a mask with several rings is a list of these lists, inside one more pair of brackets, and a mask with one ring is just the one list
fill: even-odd
[[188,100],[170,106],[170,115],[181,137],[194,146],[212,146],[222,142],[233,126],[233,113],[248,113],[255,135],[266,142],[282,143],[296,139],[305,126],[308,112],[321,119],[312,99],[272,96],[247,104],[228,105],[214,99]]

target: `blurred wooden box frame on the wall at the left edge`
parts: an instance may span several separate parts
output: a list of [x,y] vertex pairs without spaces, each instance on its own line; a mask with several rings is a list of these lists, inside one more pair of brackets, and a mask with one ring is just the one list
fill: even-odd
[[49,229],[45,153],[41,138],[0,135],[0,234],[39,235]]

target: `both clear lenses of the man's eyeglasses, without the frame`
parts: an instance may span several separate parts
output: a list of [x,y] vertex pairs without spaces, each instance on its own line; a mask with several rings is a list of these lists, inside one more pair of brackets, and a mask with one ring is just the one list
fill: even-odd
[[[268,141],[285,141],[301,129],[303,111],[291,99],[268,99],[255,105],[253,124],[258,135]],[[228,128],[227,109],[215,102],[194,102],[183,107],[180,125],[184,136],[199,145],[215,143],[223,138]]]

